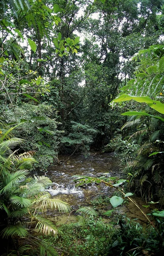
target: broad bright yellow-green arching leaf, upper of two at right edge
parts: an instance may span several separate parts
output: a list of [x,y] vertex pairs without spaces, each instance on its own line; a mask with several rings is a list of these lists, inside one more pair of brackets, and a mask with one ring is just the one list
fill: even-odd
[[129,101],[131,99],[135,100],[136,102],[146,103],[150,108],[153,108],[159,113],[164,114],[164,104],[157,100],[150,99],[147,96],[138,97],[138,96],[130,96],[127,94],[122,94],[118,98],[113,99],[112,103]]

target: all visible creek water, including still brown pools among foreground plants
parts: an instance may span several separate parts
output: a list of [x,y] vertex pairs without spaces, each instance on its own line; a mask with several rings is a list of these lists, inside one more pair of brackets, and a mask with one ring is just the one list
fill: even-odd
[[[90,177],[121,177],[119,160],[114,153],[99,154],[93,153],[88,158],[82,155],[59,156],[59,164],[49,167],[47,176],[52,180],[52,185],[47,191],[53,198],[61,199],[71,205],[74,210],[80,206],[87,206],[89,202],[99,195],[107,195],[111,197],[115,189],[105,186],[105,184],[88,184],[84,187],[75,187],[75,176],[90,176]],[[145,204],[140,198],[135,198],[139,206],[144,212],[148,209],[142,207]],[[111,207],[111,206],[110,206]],[[119,213],[127,215],[130,218],[138,218],[140,221],[145,221],[141,214],[132,203],[118,207]],[[68,221],[67,215],[61,215],[57,212],[49,212],[49,215],[54,218],[58,224]],[[71,221],[74,221],[74,215],[71,215]]]

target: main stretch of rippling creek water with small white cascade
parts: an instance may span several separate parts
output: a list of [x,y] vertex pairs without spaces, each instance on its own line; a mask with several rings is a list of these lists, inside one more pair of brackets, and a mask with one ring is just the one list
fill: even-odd
[[113,153],[92,154],[88,158],[82,155],[60,156],[59,162],[60,164],[48,169],[47,175],[53,183],[47,191],[55,198],[60,198],[71,204],[73,208],[86,205],[94,195],[112,193],[112,189],[104,184],[98,186],[89,183],[89,186],[75,187],[76,175],[89,177],[120,176],[119,161]]

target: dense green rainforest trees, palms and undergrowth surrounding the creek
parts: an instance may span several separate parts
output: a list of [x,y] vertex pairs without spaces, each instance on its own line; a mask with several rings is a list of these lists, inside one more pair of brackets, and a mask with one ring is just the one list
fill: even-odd
[[[56,227],[47,210],[71,206],[45,191],[48,167],[92,151],[114,151],[124,180],[79,177],[116,194]],[[0,1],[1,255],[161,255],[163,154],[163,0]],[[158,202],[147,226],[115,210],[133,194]]]

